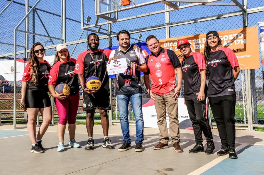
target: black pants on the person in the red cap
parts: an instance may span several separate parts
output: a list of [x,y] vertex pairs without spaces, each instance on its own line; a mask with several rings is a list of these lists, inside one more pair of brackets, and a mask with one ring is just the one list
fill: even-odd
[[213,143],[213,134],[210,129],[209,121],[206,119],[205,100],[198,101],[197,99],[186,100],[187,110],[192,121],[195,142],[202,144],[202,132],[207,140],[207,143]]

